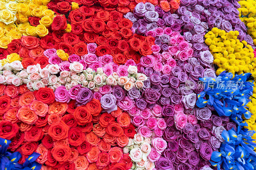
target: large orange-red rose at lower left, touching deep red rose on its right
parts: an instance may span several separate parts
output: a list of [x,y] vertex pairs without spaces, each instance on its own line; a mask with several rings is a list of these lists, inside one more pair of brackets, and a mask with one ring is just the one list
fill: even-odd
[[68,130],[69,127],[63,121],[60,121],[51,124],[48,130],[48,134],[50,137],[52,137],[53,140],[58,141],[68,137]]

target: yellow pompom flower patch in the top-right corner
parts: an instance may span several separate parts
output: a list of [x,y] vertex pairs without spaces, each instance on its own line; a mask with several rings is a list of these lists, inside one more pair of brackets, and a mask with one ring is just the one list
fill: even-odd
[[241,7],[238,9],[239,17],[245,26],[247,26],[247,34],[253,39],[253,44],[256,45],[256,1],[246,0],[238,1]]

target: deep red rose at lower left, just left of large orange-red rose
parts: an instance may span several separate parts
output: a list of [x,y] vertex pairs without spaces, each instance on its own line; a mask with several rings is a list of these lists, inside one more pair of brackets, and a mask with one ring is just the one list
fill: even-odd
[[44,132],[42,128],[33,126],[30,130],[24,132],[25,137],[24,139],[28,142],[37,142],[41,140],[44,136]]

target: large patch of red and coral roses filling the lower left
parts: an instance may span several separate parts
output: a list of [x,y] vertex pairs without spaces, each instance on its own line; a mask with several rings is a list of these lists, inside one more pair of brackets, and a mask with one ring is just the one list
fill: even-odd
[[[100,101],[84,106],[55,101],[53,90],[30,92],[25,85],[0,84],[0,137],[12,141],[23,163],[33,152],[52,169],[120,169],[132,167],[122,147],[136,134],[131,118],[120,108],[105,113]],[[42,169],[43,169],[42,168]]]

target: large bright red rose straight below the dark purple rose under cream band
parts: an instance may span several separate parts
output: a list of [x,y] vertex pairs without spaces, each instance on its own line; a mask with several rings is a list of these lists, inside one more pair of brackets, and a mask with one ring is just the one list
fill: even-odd
[[92,122],[92,115],[85,106],[76,107],[74,117],[79,125],[85,125],[86,123]]

